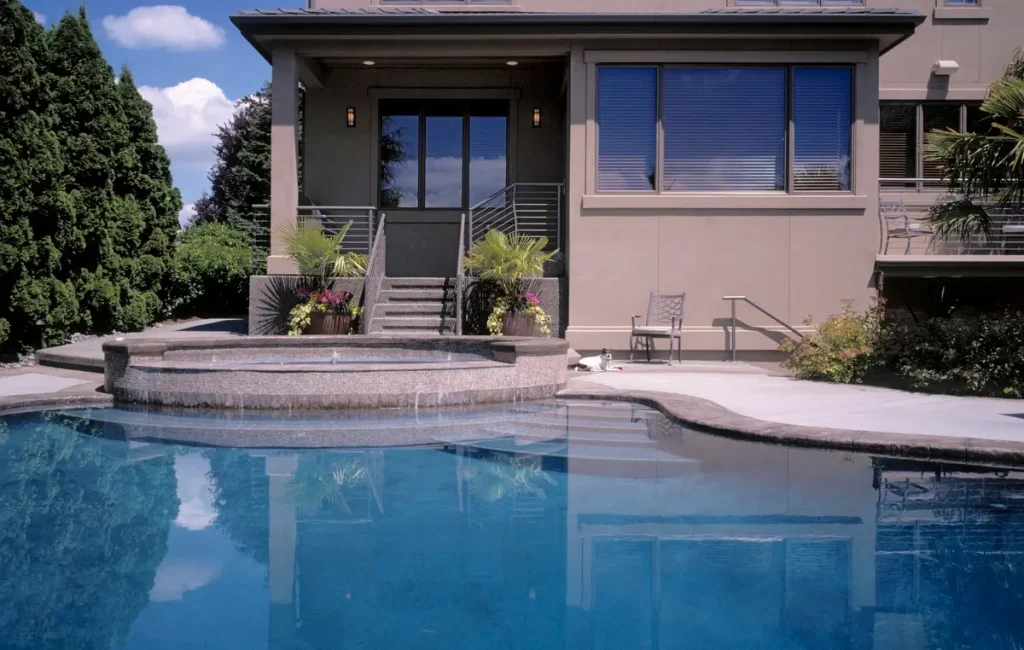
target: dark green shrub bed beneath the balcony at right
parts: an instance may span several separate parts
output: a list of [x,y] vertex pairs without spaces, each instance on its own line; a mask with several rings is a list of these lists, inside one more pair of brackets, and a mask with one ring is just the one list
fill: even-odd
[[948,386],[985,395],[1024,393],[1024,313],[918,318],[890,310],[876,356],[880,367],[919,388]]

